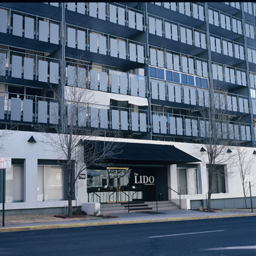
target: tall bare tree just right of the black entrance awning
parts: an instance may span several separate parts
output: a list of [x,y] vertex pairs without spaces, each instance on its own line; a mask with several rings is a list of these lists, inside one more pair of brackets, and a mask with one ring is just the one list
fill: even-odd
[[[225,101],[224,91],[212,92],[209,97],[207,91],[204,93],[200,102],[200,109],[196,112],[199,116],[198,141],[203,145],[200,155],[204,155],[202,162],[206,165],[208,171],[208,210],[211,209],[211,195],[213,184],[217,178],[224,179],[226,176],[232,176],[233,170],[225,169],[223,165],[235,156],[230,154],[228,149],[235,140],[239,140],[239,131],[233,123],[233,116],[225,110],[229,102]],[[239,122],[238,119],[235,120]],[[200,146],[201,147],[201,146]],[[198,152],[199,150],[197,150]],[[197,155],[198,155],[197,154]],[[222,165],[222,166],[221,166]]]

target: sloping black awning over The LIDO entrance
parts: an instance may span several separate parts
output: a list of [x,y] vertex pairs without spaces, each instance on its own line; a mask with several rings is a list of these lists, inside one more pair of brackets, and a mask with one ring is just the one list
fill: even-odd
[[[104,142],[93,143],[99,150],[103,148],[103,144]],[[169,165],[201,162],[174,145],[113,142],[113,146],[116,146],[114,150],[117,154],[108,159],[113,164]]]

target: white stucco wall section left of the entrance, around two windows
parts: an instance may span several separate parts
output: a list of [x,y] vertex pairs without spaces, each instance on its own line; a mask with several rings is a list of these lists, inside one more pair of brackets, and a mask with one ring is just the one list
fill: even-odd
[[[36,143],[28,142],[33,136]],[[25,131],[14,131],[3,141],[4,147],[0,153],[1,157],[25,159],[24,162],[24,202],[5,203],[5,209],[33,209],[33,208],[58,208],[64,207],[67,200],[37,202],[37,160],[58,160],[61,158],[59,152],[43,143],[47,138],[42,133]],[[79,163],[78,163],[79,164]],[[86,180],[78,180],[78,204],[87,202]],[[76,206],[76,200],[72,201]],[[0,204],[0,210],[3,205]]]

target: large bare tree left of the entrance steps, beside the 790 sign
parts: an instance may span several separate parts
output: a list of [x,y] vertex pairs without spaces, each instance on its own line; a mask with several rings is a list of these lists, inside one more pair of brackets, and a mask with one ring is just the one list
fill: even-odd
[[[55,87],[50,85],[56,101],[58,99],[59,103],[64,101],[63,111],[59,111],[59,104],[56,102],[52,115],[54,129],[49,131],[40,124],[39,129],[47,137],[44,143],[50,145],[54,151],[59,153],[59,163],[67,169],[67,197],[70,216],[72,215],[72,196],[78,176],[93,165],[105,167],[107,160],[113,158],[118,151],[120,152],[120,144],[115,141],[118,131],[91,129],[88,123],[88,109],[92,107],[96,99],[93,91],[85,88],[86,72],[81,66],[81,61],[70,63],[67,70],[69,86],[65,86],[63,83],[59,83]],[[61,76],[62,81],[65,81],[63,72],[61,72]],[[91,78],[90,85],[91,88],[98,87],[98,78]],[[98,123],[98,117],[95,121]],[[94,122],[94,120],[91,120],[91,122]],[[107,136],[112,136],[112,138],[107,138]],[[79,162],[79,164],[76,164],[76,170],[74,171],[75,162]]]

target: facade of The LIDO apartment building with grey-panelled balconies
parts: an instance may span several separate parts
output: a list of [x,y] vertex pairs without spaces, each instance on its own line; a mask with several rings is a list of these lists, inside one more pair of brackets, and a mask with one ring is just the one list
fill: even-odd
[[[67,203],[67,175],[58,164],[64,156],[43,143],[37,127],[61,122],[74,86],[93,93],[76,116],[78,126],[119,131],[127,144],[175,145],[193,156],[209,122],[199,110],[214,99],[226,113],[221,138],[239,142],[252,155],[255,16],[251,2],[1,3],[0,125],[2,131],[13,130],[3,138],[1,151],[12,157],[6,209],[63,208]],[[61,98],[52,91],[56,85],[63,88]],[[73,205],[99,197],[101,202],[127,200],[121,192],[111,198],[110,187],[131,187],[131,173],[147,176],[143,184],[153,184],[153,178],[156,184],[153,192],[137,186],[137,199],[162,194],[164,200],[176,200],[171,187],[186,200],[186,208],[206,205],[207,165],[202,162],[148,165],[131,158],[115,167],[112,173],[85,171]],[[232,161],[222,165],[223,172],[231,169]],[[238,174],[216,180],[216,206],[244,206]]]

